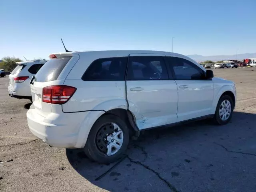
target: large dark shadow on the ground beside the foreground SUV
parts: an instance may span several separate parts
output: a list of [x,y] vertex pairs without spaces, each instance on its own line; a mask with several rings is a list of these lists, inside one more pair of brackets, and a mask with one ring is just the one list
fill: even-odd
[[130,142],[126,156],[108,165],[92,162],[81,149],[66,149],[66,155],[81,176],[110,191],[256,190],[255,183],[252,189],[241,184],[250,176],[245,164],[255,167],[255,118],[234,112],[224,126],[204,120],[148,130]]

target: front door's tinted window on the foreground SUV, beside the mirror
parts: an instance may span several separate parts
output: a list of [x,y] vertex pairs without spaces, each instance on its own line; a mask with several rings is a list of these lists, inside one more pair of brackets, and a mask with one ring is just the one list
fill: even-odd
[[205,74],[194,63],[178,57],[167,57],[176,80],[204,80]]

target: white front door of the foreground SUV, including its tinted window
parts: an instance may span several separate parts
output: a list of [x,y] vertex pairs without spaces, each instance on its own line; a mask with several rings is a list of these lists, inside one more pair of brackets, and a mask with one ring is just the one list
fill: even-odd
[[195,63],[179,57],[166,57],[178,87],[177,121],[209,115],[214,96],[213,82]]

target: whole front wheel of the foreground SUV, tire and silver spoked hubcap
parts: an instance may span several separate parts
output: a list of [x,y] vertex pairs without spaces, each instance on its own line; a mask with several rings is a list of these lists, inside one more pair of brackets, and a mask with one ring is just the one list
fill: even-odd
[[234,102],[228,95],[224,95],[218,101],[214,121],[220,125],[227,124],[232,118]]

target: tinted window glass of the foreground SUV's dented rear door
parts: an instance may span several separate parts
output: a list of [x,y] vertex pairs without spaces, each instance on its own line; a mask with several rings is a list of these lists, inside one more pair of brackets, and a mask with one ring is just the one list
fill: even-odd
[[127,80],[168,80],[162,56],[129,57]]

